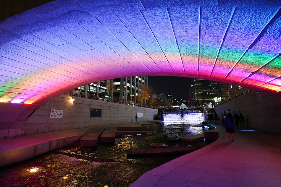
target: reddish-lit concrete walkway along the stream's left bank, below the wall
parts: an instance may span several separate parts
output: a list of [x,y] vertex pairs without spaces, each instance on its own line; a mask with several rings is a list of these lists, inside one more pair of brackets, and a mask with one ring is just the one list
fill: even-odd
[[[138,123],[138,125],[140,125]],[[136,125],[136,123],[122,123],[107,127]],[[0,138],[0,167],[21,162],[37,155],[60,147],[75,144],[89,129],[100,129],[101,126],[83,129],[28,134],[24,136]]]

